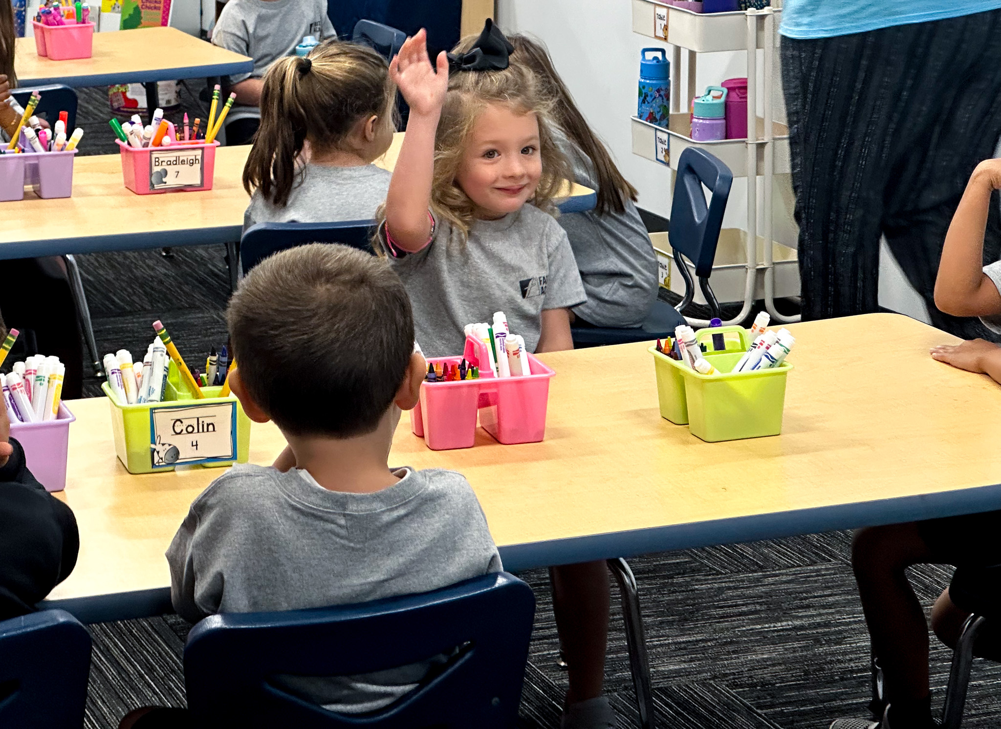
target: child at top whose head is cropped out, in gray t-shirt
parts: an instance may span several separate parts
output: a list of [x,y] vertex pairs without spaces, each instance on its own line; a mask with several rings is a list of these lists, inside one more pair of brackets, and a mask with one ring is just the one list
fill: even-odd
[[258,122],[240,115],[240,106],[259,106],[261,79],[267,69],[295,53],[295,46],[307,35],[317,41],[336,40],[325,0],[229,0],[223,6],[212,30],[212,44],[253,59],[253,71],[227,80],[229,90],[236,94],[234,121],[226,124],[227,144],[250,142]]

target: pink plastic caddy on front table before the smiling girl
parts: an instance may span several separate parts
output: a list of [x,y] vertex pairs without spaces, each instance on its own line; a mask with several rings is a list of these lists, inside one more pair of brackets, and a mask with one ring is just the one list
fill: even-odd
[[[482,341],[466,338],[464,359],[477,366],[478,379],[421,383],[420,402],[410,411],[410,428],[431,450],[471,448],[477,414],[483,430],[505,445],[538,443],[546,436],[550,378],[556,372],[528,354],[531,375],[493,377],[484,350]],[[454,367],[462,359],[432,357],[427,362]]]

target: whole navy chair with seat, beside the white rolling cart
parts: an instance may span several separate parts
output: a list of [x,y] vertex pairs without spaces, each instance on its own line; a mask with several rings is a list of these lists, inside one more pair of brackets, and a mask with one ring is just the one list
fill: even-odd
[[[723,227],[734,175],[719,159],[705,150],[689,147],[678,160],[675,173],[675,196],[671,202],[671,227],[668,240],[674,251],[675,267],[685,281],[685,296],[675,307],[658,299],[639,327],[571,327],[575,345],[625,344],[664,339],[674,336],[675,327],[685,323],[680,312],[692,303],[695,283],[682,256],[695,264],[696,276],[714,317],[720,315],[720,305],[709,285],[716,258],[716,245]],[[707,205],[702,186],[712,193]]]

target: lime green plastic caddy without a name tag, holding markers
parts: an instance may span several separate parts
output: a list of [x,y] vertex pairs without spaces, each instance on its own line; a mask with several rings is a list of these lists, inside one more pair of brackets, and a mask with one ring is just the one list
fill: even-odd
[[[714,351],[713,335],[725,337],[725,349]],[[661,417],[688,425],[692,435],[708,442],[758,438],[782,432],[786,375],[792,364],[747,372],[731,372],[747,354],[751,336],[744,327],[700,329],[696,341],[707,345],[702,357],[718,370],[704,375],[687,363],[651,347],[657,373]]]

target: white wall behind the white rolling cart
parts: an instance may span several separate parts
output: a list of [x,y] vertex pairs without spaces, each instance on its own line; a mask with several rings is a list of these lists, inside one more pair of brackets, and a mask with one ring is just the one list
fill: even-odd
[[[633,154],[630,130],[630,116],[636,114],[640,50],[664,44],[633,32],[629,0],[496,0],[496,19],[504,30],[532,33],[546,42],[581,111],[608,145],[623,174],[640,191],[640,206],[670,217],[671,172],[657,162]],[[682,55],[684,83],[687,54]],[[759,58],[759,69],[763,65]],[[778,72],[778,64],[776,67]],[[696,79],[699,88],[744,75],[746,62],[742,53],[709,53],[699,57]],[[780,183],[788,185],[788,177],[780,178]],[[791,196],[783,196],[777,190],[775,199],[782,197]],[[745,227],[746,201],[745,181],[735,180],[725,226]],[[775,220],[775,239],[795,246],[795,226],[789,220],[778,219],[781,217]],[[923,301],[907,283],[885,245],[883,249],[880,303],[927,320]]]

